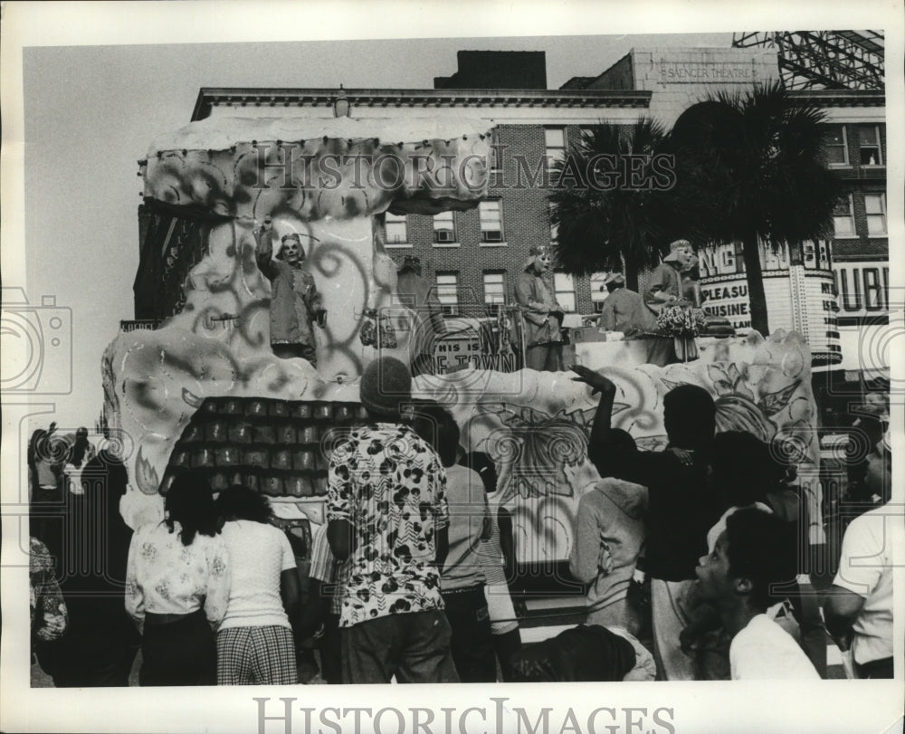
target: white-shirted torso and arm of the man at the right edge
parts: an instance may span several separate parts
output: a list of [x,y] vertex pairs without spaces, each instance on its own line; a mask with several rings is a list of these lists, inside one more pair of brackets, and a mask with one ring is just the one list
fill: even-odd
[[852,650],[859,678],[892,678],[892,554],[905,519],[881,505],[852,520],[839,570],[824,602],[826,629]]

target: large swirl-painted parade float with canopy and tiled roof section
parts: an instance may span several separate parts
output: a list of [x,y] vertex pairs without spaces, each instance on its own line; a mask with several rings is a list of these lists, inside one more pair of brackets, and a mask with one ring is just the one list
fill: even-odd
[[[177,472],[206,472],[214,490],[243,482],[271,497],[281,521],[325,519],[329,453],[364,417],[357,378],[378,354],[408,361],[414,319],[395,293],[386,211],[435,214],[478,205],[487,192],[490,130],[467,119],[405,123],[348,118],[206,119],[155,140],[141,161],[145,200],[204,211],[205,253],[184,305],[159,329],[120,333],[102,373],[105,408],[126,446],[133,527],[162,516]],[[300,233],[329,319],[314,329],[318,367],[279,358],[269,338],[270,282],[255,262],[255,232],[271,220]],[[364,343],[367,314],[393,343]],[[454,337],[451,337],[454,338]],[[644,449],[666,443],[662,398],[684,383],[716,399],[718,430],[777,435],[801,462],[812,542],[822,542],[811,356],[795,332],[700,339],[699,356],[654,367],[633,340],[576,345],[576,361],[618,388],[614,426]],[[570,373],[500,372],[469,363],[414,380],[416,397],[447,406],[468,451],[490,454],[491,495],[513,521],[520,565],[568,557],[578,500],[597,480],[587,459],[596,396]]]

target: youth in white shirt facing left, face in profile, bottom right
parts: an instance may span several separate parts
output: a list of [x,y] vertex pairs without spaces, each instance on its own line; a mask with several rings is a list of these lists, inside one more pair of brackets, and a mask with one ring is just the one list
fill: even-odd
[[785,537],[775,515],[738,510],[698,562],[700,596],[717,607],[732,638],[733,681],[820,680],[798,643],[764,614],[772,602],[770,586],[795,577],[795,549],[780,541]]

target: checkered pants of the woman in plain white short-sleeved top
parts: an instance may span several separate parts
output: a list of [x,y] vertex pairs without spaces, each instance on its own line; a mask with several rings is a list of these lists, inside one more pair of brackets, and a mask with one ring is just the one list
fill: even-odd
[[230,627],[217,633],[217,685],[299,682],[289,627]]

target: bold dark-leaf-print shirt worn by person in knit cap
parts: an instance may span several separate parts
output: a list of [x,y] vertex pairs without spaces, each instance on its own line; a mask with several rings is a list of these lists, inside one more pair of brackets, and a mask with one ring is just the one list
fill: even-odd
[[327,520],[352,525],[340,627],[443,609],[434,535],[449,526],[440,458],[400,424],[355,429],[330,459]]

